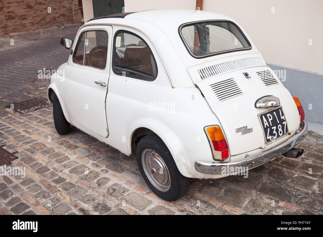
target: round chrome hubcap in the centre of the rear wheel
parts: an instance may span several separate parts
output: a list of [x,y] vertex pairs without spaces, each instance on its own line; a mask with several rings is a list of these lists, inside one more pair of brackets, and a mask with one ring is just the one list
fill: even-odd
[[155,188],[166,192],[171,187],[171,176],[161,156],[151,149],[141,154],[141,163],[146,176]]

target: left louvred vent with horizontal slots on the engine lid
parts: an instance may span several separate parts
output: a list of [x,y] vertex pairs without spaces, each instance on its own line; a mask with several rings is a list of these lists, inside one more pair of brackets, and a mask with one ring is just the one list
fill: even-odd
[[220,102],[243,94],[233,78],[211,84],[210,87]]

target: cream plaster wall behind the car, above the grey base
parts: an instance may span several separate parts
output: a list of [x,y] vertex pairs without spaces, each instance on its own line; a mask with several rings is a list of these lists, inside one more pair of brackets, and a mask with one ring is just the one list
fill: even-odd
[[[125,10],[195,9],[195,4],[125,0]],[[203,10],[238,21],[267,63],[323,74],[323,0],[203,0]]]

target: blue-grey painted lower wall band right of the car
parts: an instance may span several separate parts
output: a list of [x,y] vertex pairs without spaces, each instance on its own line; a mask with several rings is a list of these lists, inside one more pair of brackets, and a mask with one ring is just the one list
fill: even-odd
[[283,76],[277,76],[289,92],[301,101],[308,129],[323,132],[323,75],[275,64],[267,66],[273,70],[283,70]]

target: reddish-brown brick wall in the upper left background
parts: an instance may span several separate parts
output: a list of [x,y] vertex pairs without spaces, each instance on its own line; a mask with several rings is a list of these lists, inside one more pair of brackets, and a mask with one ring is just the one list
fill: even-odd
[[0,0],[0,35],[72,24],[72,5],[72,0]]

